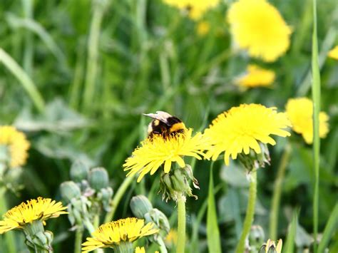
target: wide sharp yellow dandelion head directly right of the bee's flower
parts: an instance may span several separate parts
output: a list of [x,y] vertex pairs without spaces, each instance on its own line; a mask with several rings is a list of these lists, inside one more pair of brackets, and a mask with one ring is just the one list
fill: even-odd
[[291,126],[286,113],[277,113],[276,108],[266,108],[264,105],[242,104],[221,113],[205,130],[205,137],[210,138],[212,148],[208,157],[216,160],[220,153],[225,152],[225,164],[229,164],[230,155],[236,159],[237,155],[250,149],[260,154],[260,143],[275,145],[270,135],[289,136],[284,128]]

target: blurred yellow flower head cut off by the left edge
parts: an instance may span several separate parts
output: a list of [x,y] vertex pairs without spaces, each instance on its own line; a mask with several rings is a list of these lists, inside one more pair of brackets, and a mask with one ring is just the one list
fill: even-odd
[[10,125],[0,126],[0,145],[8,146],[11,155],[11,167],[19,167],[26,163],[29,150],[29,141],[24,133]]

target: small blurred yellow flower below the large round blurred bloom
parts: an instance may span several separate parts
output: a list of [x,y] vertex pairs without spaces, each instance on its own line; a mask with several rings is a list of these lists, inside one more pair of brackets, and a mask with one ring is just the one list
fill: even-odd
[[275,72],[256,65],[247,66],[245,76],[237,78],[235,83],[244,88],[267,87],[275,81]]

